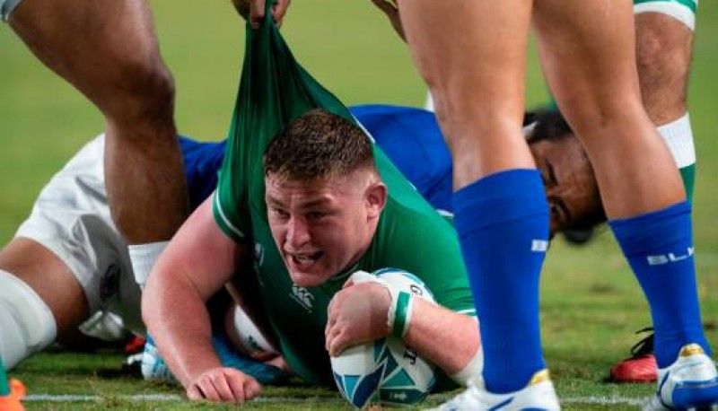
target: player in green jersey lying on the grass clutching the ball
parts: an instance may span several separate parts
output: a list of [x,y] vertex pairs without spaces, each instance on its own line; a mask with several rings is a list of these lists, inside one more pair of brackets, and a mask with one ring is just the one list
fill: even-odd
[[[384,267],[421,278],[438,302],[414,303],[405,343],[456,380],[476,372],[477,323],[456,234],[388,158],[374,156],[362,129],[314,110],[260,154],[258,175],[230,173],[247,164],[234,168],[225,158],[215,197],[176,234],[144,291],[148,331],[188,397],[258,395],[256,380],[221,365],[205,308],[224,284],[246,275],[257,276],[286,363],[308,383],[333,386],[330,354],[388,335],[390,293],[378,284],[345,287],[356,270]],[[233,159],[249,170],[255,160]],[[238,191],[232,202],[223,202],[227,187]],[[214,216],[213,200],[221,203]],[[442,346],[433,344],[438,333]]]

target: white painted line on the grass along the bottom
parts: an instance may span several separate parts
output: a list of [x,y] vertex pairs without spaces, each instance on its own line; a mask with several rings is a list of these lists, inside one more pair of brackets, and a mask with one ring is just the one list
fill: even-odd
[[[22,398],[22,401],[37,402],[101,402],[105,399],[116,398],[119,400],[130,401],[130,402],[142,402],[142,401],[159,401],[159,402],[172,402],[172,401],[183,401],[183,396],[175,394],[138,394],[130,396],[94,396],[94,395],[48,395],[48,394],[35,394],[29,395]],[[446,398],[448,399],[448,398]],[[253,399],[253,402],[259,403],[297,403],[304,402],[307,400],[315,402],[339,402],[339,398],[293,398],[293,397],[258,397]],[[592,405],[628,405],[628,406],[641,406],[644,404],[645,398],[636,397],[568,397],[561,398],[561,402],[565,404],[592,404]]]

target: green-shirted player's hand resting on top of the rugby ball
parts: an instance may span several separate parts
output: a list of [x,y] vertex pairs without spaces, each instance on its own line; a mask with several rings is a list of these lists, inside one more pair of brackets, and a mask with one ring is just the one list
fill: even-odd
[[350,277],[329,302],[324,331],[329,355],[337,356],[353,345],[387,337],[390,303],[391,294],[386,284],[381,281],[358,283],[354,275]]

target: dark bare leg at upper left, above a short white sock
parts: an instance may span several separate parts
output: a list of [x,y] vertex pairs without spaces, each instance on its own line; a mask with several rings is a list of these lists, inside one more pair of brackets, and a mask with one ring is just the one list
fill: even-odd
[[171,74],[144,0],[25,0],[10,24],[101,109],[109,205],[127,242],[170,239],[187,214],[187,190]]

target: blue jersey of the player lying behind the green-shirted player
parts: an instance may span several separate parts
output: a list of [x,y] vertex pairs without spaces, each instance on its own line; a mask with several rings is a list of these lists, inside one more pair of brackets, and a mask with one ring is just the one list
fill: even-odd
[[[350,110],[422,197],[434,208],[451,211],[451,153],[433,113],[381,104]],[[215,190],[225,145],[180,136],[192,209]]]

